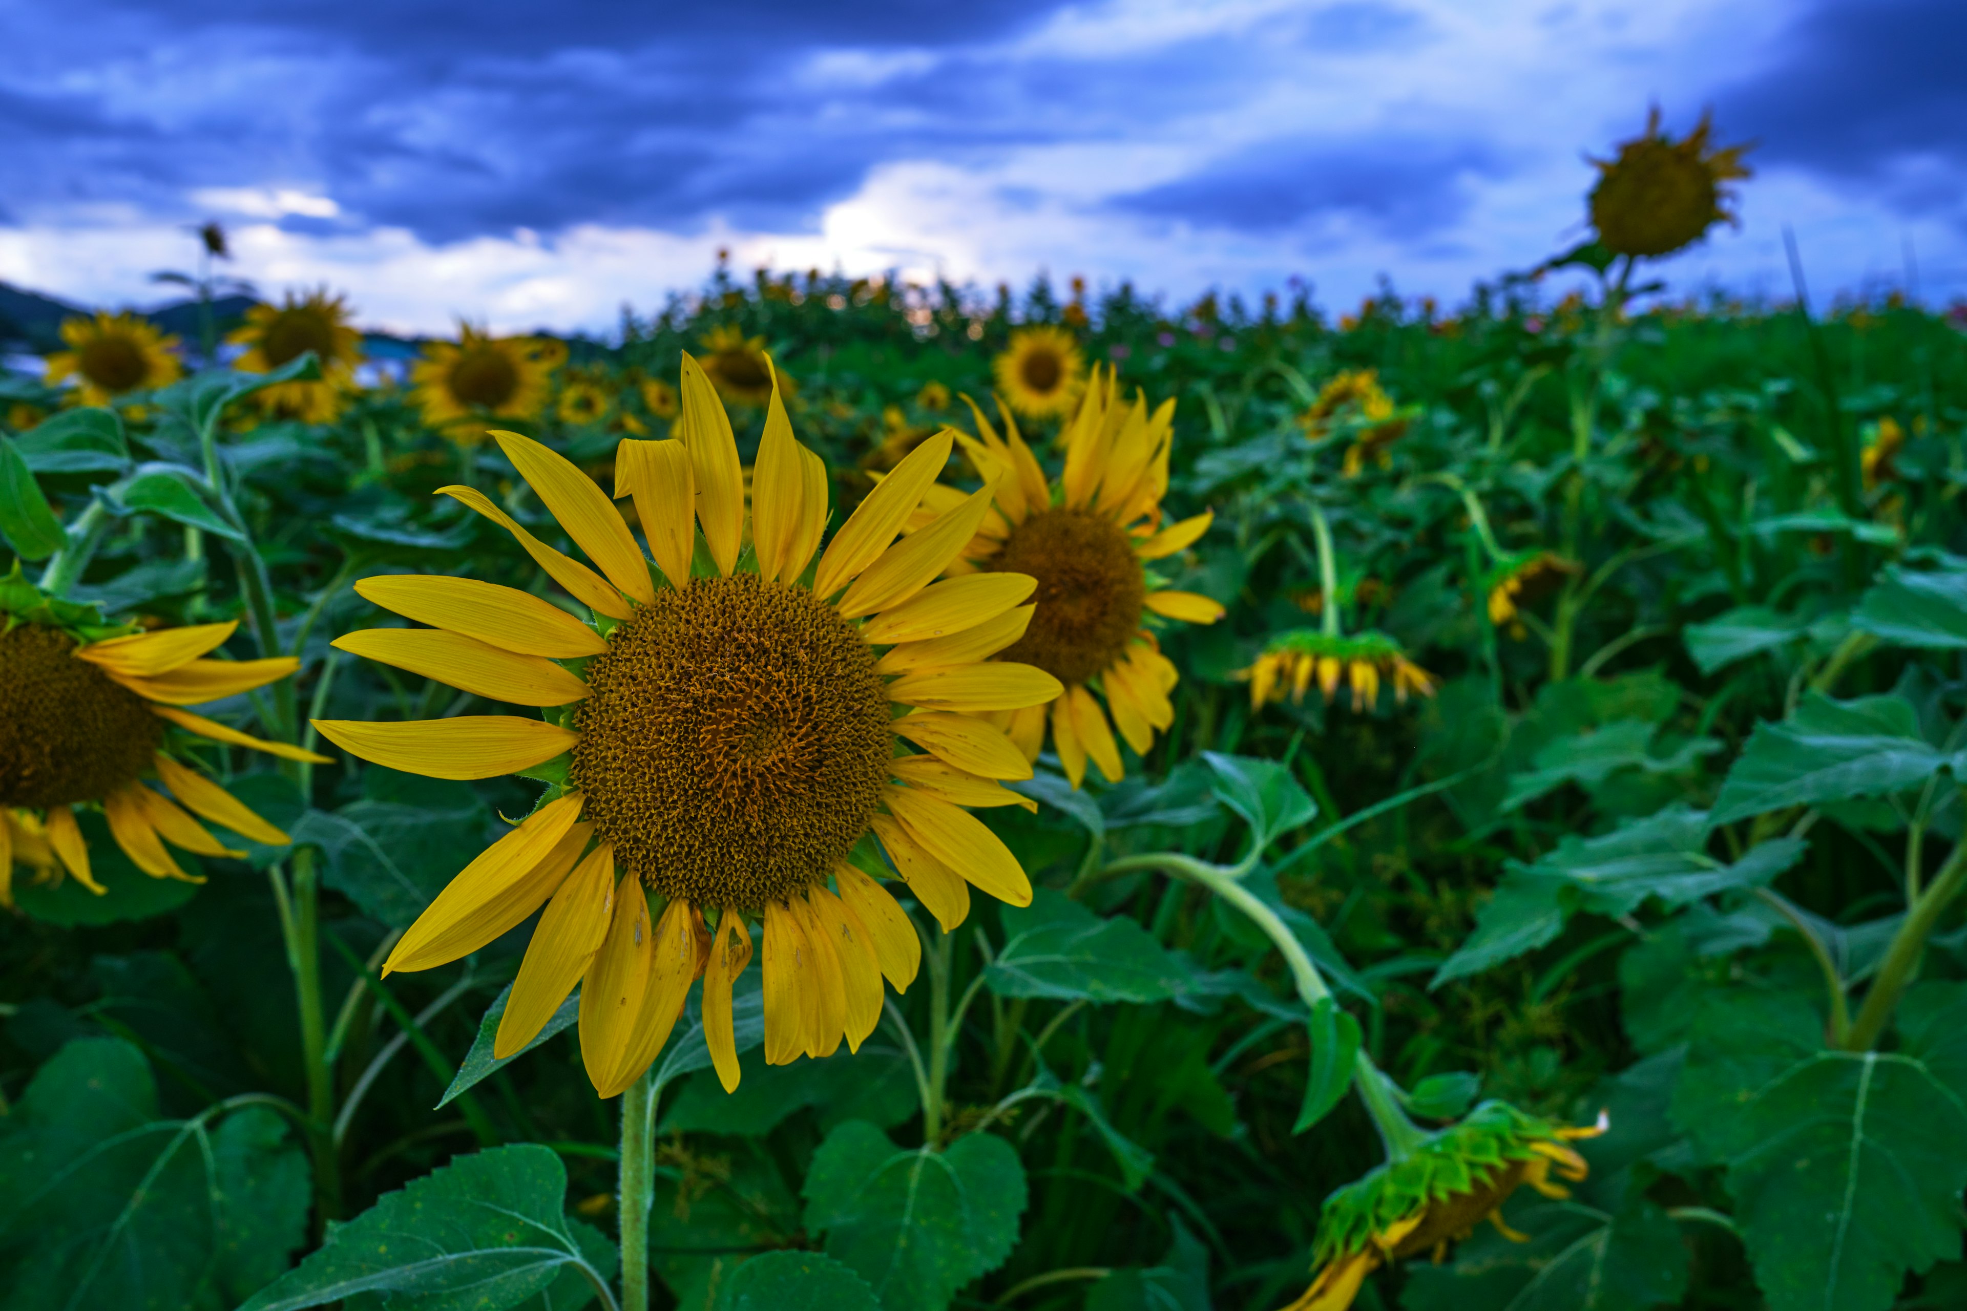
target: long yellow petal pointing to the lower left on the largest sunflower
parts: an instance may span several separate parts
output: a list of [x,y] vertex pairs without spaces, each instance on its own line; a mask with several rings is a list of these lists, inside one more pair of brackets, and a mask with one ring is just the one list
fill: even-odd
[[570,861],[553,855],[580,818],[580,800],[574,794],[547,802],[480,851],[423,908],[395,943],[384,973],[448,965],[539,910],[566,877]]

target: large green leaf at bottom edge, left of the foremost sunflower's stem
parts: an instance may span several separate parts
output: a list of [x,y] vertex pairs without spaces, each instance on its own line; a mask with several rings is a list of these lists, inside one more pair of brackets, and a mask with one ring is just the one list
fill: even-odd
[[319,1252],[240,1311],[299,1311],[358,1293],[389,1293],[389,1311],[515,1307],[566,1266],[586,1266],[565,1197],[566,1169],[551,1148],[456,1156],[330,1228]]

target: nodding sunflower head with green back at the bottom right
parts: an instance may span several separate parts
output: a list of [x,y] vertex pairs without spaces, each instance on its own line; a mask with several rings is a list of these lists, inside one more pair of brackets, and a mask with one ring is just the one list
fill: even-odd
[[1524,1183],[1544,1197],[1570,1197],[1550,1175],[1583,1179],[1589,1166],[1570,1144],[1605,1128],[1603,1114],[1589,1128],[1572,1128],[1501,1101],[1475,1107],[1404,1160],[1326,1199],[1314,1248],[1318,1274],[1284,1311],[1345,1311],[1365,1278],[1387,1262],[1422,1254],[1440,1260],[1450,1242],[1467,1238],[1483,1221],[1513,1242],[1528,1242],[1503,1223],[1503,1203]]

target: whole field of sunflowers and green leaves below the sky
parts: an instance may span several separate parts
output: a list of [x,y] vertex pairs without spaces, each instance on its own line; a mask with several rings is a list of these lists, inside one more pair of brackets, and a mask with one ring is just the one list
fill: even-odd
[[1601,169],[1454,313],[67,322],[0,1307],[1967,1305],[1967,314]]

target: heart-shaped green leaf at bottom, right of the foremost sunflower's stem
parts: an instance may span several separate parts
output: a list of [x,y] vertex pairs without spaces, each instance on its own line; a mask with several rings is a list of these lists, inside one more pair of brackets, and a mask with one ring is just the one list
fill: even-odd
[[1025,1166],[1001,1138],[901,1152],[848,1120],[812,1154],[806,1228],[860,1272],[887,1311],[940,1311],[956,1289],[1001,1266],[1025,1213]]

